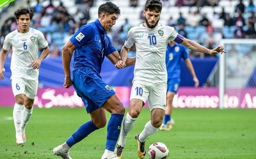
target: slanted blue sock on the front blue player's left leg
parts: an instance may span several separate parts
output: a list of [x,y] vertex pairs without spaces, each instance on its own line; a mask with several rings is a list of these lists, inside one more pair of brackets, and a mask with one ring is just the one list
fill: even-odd
[[76,132],[74,132],[66,141],[67,145],[71,148],[74,144],[80,142],[85,137],[87,137],[89,134],[94,132],[95,130],[98,130],[97,126],[90,120],[86,122],[85,124],[81,125]]

